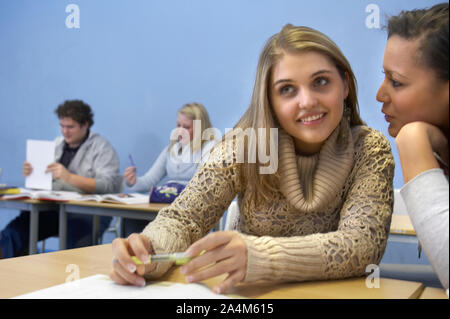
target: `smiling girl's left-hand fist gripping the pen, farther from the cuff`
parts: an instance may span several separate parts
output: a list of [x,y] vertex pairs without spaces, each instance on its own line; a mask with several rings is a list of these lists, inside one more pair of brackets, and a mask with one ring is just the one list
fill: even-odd
[[[131,234],[126,239],[114,239],[112,249],[114,259],[110,278],[120,285],[145,286],[144,274],[156,267],[154,263],[145,264],[153,254],[150,240],[144,235]],[[131,256],[139,258],[142,264],[136,265]]]

